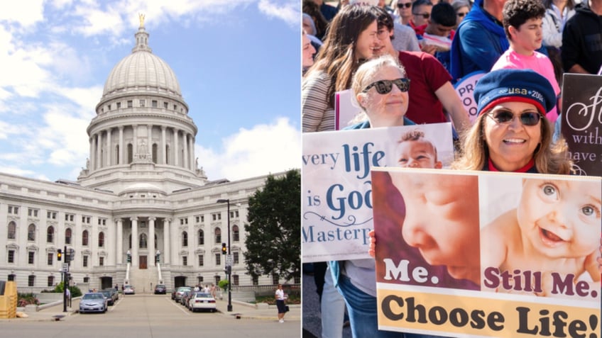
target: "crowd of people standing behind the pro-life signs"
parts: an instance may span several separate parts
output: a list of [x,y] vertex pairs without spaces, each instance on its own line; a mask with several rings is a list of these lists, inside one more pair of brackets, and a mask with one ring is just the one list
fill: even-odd
[[[303,0],[302,9],[303,133],[335,130],[336,93],[350,89],[362,112],[345,129],[451,122],[451,169],[571,174],[567,143],[553,137],[562,75],[601,74],[602,0]],[[471,123],[454,84],[474,72],[484,76]],[[435,337],[378,330],[374,259],[322,265],[322,337],[341,337],[346,315],[354,337]]]

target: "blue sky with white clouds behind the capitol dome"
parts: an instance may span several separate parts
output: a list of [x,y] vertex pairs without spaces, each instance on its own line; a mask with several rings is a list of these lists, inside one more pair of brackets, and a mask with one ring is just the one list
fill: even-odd
[[299,0],[0,1],[0,171],[77,179],[138,13],[180,82],[210,180],[300,167]]

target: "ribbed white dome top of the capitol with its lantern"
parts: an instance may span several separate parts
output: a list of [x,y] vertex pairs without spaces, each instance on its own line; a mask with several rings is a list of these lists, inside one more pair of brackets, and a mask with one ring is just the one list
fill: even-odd
[[167,62],[153,55],[148,47],[148,33],[141,26],[136,33],[136,47],[111,70],[104,84],[102,100],[123,94],[152,92],[182,98],[180,84]]

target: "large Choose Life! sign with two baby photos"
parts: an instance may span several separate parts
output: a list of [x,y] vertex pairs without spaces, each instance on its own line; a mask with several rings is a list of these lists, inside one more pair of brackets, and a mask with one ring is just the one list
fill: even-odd
[[373,168],[379,329],[600,337],[600,177]]

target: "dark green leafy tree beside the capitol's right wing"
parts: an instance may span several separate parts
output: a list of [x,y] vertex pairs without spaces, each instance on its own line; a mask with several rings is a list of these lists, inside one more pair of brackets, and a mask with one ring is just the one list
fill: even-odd
[[245,264],[255,277],[301,276],[301,174],[269,175],[266,185],[248,199]]

